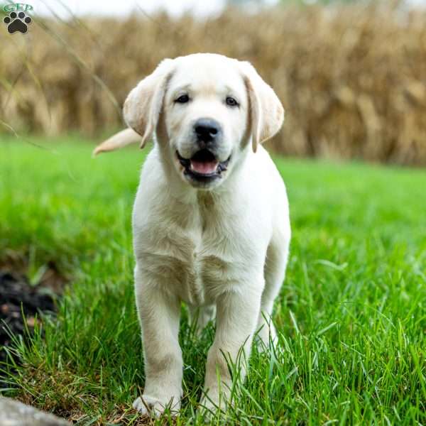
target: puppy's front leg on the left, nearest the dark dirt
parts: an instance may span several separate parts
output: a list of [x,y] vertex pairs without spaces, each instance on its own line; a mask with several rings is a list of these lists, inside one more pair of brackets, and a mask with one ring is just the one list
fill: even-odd
[[158,417],[180,409],[182,351],[178,342],[180,302],[158,285],[158,278],[136,267],[136,305],[142,328],[145,388],[133,403],[142,414]]

